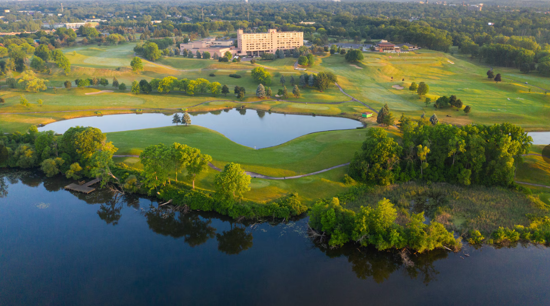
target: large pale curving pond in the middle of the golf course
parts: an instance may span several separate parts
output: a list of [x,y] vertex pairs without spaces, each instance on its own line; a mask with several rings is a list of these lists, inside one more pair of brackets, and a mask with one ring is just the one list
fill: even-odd
[[[327,116],[291,115],[262,110],[234,109],[189,113],[191,124],[218,131],[243,146],[257,149],[277,146],[313,132],[355,129],[359,121]],[[93,126],[103,132],[169,126],[173,114],[122,114],[75,118],[40,127],[39,131],[63,133],[72,126]],[[182,115],[182,114],[180,114]]]

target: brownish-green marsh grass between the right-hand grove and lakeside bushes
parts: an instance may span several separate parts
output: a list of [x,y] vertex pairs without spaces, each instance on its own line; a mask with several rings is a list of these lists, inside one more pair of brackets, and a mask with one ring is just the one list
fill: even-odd
[[383,198],[406,210],[420,205],[422,209],[416,211],[425,210],[426,216],[459,234],[472,229],[491,233],[499,226],[527,226],[529,215],[547,215],[550,208],[539,196],[527,196],[508,188],[418,182],[368,188],[346,201],[345,208],[357,212],[361,205],[374,205]]

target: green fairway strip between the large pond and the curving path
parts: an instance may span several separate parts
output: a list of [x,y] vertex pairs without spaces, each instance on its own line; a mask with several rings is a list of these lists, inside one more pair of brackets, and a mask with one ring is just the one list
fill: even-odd
[[363,129],[319,132],[255,150],[195,125],[107,133],[108,141],[119,148],[120,155],[139,155],[150,144],[179,142],[212,155],[213,164],[219,167],[234,162],[248,171],[275,177],[307,174],[348,163],[364,138]]

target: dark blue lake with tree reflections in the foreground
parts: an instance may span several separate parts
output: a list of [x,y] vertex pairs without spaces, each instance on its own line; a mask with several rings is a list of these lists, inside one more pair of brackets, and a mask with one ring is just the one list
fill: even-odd
[[436,251],[404,268],[392,252],[312,243],[307,218],[251,227],[0,177],[1,305],[550,304],[546,247]]

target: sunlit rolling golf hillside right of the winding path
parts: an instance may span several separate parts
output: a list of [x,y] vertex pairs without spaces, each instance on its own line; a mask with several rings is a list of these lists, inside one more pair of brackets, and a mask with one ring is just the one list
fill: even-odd
[[[397,116],[405,113],[417,117],[426,112],[428,115],[437,114],[443,123],[464,125],[510,122],[529,130],[550,129],[550,95],[545,95],[542,90],[507,79],[497,84],[487,79],[486,66],[450,54],[429,50],[417,53],[398,55],[364,52],[365,59],[356,63],[362,69],[350,66],[342,55],[332,55],[322,59],[321,67],[338,74],[339,84],[352,96],[377,109],[388,103],[390,110]],[[503,74],[503,77],[507,75]],[[518,77],[518,73],[511,77]],[[531,82],[539,85],[550,84],[547,77],[531,76],[531,79],[536,79]],[[432,100],[455,94],[464,105],[472,107],[472,112],[466,115],[453,108],[436,110],[432,105],[426,107],[424,97],[419,99],[408,91],[413,81],[417,84],[426,82],[430,86],[428,97]],[[392,88],[393,85],[405,89],[396,90]]]

